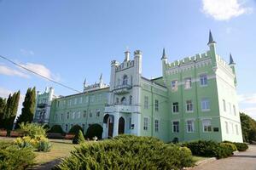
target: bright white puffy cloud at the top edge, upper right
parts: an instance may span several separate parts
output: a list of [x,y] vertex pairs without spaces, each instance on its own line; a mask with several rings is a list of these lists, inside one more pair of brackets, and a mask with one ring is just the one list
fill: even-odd
[[202,0],[202,4],[202,12],[214,20],[230,20],[253,11],[253,8],[242,7],[239,0]]

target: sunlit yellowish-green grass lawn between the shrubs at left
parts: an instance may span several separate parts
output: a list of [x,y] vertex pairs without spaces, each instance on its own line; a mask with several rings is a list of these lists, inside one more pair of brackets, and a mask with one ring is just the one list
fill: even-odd
[[[0,138],[0,141],[12,142],[14,139]],[[49,152],[34,152],[37,156],[35,159],[36,164],[40,165],[55,159],[69,156],[70,151],[74,150],[75,146],[79,146],[79,144],[72,144],[72,140],[49,139],[49,141],[52,144]]]

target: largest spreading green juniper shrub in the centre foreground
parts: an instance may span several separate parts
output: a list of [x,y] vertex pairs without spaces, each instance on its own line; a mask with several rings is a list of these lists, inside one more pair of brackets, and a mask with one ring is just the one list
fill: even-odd
[[83,143],[55,169],[181,169],[191,167],[191,151],[159,139],[121,135]]

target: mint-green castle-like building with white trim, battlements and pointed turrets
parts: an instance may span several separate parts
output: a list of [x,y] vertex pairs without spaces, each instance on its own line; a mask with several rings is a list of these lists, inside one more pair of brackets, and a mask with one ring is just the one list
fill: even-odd
[[177,139],[242,141],[236,95],[236,69],[216,53],[212,33],[203,54],[168,62],[163,50],[162,77],[142,76],[142,52],[129,51],[119,63],[111,62],[109,86],[102,76],[84,92],[51,101],[49,126],[64,131],[79,124],[103,127],[102,137],[120,133],[154,136],[166,142]]

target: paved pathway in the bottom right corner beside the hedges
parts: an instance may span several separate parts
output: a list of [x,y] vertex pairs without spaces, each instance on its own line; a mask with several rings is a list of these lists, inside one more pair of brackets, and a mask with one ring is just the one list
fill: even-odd
[[225,159],[207,162],[192,168],[193,170],[256,170],[256,145],[249,145],[249,149],[238,152]]

